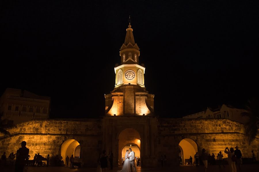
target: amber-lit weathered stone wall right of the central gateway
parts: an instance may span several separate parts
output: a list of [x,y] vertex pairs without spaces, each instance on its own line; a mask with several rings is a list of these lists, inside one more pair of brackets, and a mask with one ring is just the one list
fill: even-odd
[[207,153],[214,153],[215,156],[221,151],[226,158],[226,147],[239,146],[243,157],[250,158],[254,150],[259,158],[259,136],[248,145],[244,126],[238,122],[228,119],[159,119],[155,140],[157,159],[166,153],[168,161],[177,164],[180,151],[178,145],[184,138],[196,142],[199,154],[205,148]]

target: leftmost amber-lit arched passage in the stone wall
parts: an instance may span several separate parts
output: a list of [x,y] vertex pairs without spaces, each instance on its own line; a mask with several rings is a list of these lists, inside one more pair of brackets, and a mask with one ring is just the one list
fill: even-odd
[[66,156],[71,157],[71,155],[74,157],[77,155],[80,156],[79,142],[75,139],[67,139],[61,145],[61,156],[63,157],[63,161],[65,161]]

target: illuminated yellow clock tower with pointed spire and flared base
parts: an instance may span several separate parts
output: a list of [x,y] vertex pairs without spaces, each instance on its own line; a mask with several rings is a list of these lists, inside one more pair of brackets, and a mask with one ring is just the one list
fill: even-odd
[[140,51],[133,37],[133,29],[126,29],[120,48],[121,64],[116,64],[115,88],[105,95],[105,114],[108,116],[135,116],[154,114],[154,95],[144,86],[144,64],[139,65]]

